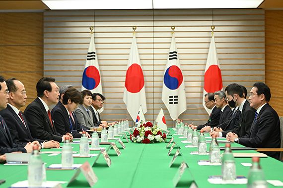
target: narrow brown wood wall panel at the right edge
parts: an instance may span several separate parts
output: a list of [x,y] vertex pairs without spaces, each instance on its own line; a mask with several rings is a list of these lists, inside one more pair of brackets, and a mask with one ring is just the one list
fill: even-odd
[[270,104],[283,116],[283,10],[265,11],[265,62]]

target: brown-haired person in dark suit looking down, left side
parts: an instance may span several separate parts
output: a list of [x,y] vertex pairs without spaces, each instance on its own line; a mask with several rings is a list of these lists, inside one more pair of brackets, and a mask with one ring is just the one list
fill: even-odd
[[[81,132],[79,132],[80,127],[73,113],[77,105],[81,103],[81,94],[75,88],[71,87],[64,92],[62,103],[58,102],[58,107],[52,113],[56,130],[61,135],[71,133],[73,138],[81,137]],[[89,135],[87,134],[87,136]]]

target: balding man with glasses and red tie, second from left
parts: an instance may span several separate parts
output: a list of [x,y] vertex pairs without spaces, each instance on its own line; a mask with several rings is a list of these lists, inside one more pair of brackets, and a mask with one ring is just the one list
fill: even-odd
[[25,105],[27,99],[24,85],[15,78],[6,80],[6,84],[9,90],[8,105],[6,109],[0,111],[0,115],[4,118],[9,128],[13,142],[26,144],[32,141],[39,141],[41,148],[60,147],[59,142],[56,141],[44,141],[32,138],[25,116],[20,111],[20,108]]

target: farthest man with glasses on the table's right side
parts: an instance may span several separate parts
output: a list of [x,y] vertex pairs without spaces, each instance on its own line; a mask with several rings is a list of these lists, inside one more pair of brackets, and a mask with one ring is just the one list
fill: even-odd
[[212,127],[215,127],[216,125],[219,124],[221,109],[216,108],[214,102],[215,102],[215,100],[214,100],[214,94],[213,93],[205,94],[205,105],[208,109],[212,110],[212,113],[210,115],[208,122],[204,125],[199,125],[198,130],[201,130],[202,128],[204,128],[206,126],[209,126],[209,129],[211,129]]

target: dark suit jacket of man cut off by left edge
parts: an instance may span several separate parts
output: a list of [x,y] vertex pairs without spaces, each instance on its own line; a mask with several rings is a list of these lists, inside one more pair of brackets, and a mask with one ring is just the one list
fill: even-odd
[[2,119],[2,123],[0,123],[0,155],[5,153],[11,153],[14,151],[21,151],[26,153],[25,145],[15,144],[10,135],[10,131],[5,123],[5,120],[0,116],[0,120]]

